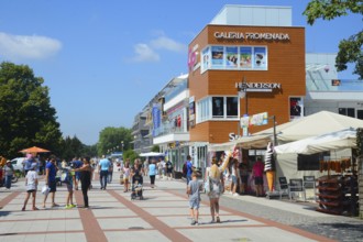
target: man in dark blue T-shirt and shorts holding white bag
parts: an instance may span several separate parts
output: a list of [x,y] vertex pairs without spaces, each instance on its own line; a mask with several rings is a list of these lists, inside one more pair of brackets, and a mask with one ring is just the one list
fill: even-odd
[[[55,193],[57,190],[56,184],[56,174],[57,174],[57,166],[56,166],[56,157],[54,155],[51,156],[51,161],[45,165],[45,185],[50,188],[50,194],[52,194],[52,207],[57,207],[58,205],[55,204]],[[48,194],[44,196],[43,208],[45,208],[45,202],[48,197]]]

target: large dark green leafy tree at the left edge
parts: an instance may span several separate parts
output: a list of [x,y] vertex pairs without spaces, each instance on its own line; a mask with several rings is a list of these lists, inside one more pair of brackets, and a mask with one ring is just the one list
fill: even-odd
[[0,64],[0,151],[9,158],[34,145],[59,152],[59,123],[43,82],[26,65]]

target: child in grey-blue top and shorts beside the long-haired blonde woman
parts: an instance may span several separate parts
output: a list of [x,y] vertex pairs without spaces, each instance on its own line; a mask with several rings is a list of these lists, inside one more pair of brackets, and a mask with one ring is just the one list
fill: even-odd
[[202,183],[197,178],[197,173],[191,174],[191,180],[187,186],[187,194],[189,195],[189,210],[191,217],[191,226],[198,226],[200,191],[202,190]]

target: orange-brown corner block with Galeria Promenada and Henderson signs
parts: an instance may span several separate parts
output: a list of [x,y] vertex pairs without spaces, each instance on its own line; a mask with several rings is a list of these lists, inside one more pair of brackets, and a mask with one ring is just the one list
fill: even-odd
[[[189,59],[191,151],[271,128],[273,116],[304,116],[305,29],[288,7],[226,6],[191,41]],[[264,121],[242,132],[240,117],[258,113]]]

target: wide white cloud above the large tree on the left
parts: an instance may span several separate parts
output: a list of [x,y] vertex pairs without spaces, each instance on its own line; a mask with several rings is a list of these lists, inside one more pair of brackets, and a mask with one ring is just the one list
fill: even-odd
[[62,48],[57,40],[37,35],[12,35],[0,32],[0,55],[10,61],[44,59]]

